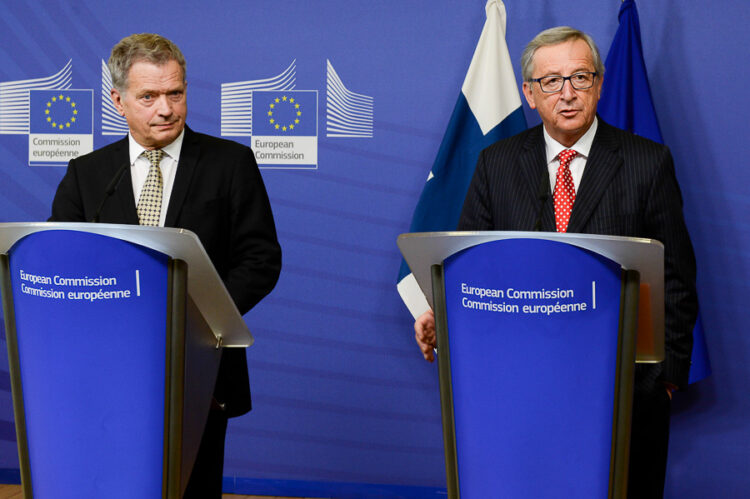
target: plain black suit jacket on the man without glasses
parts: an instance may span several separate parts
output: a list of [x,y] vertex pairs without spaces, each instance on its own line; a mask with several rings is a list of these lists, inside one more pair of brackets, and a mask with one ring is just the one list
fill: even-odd
[[[73,159],[57,188],[50,221],[86,222],[116,171],[129,163],[127,137]],[[128,172],[101,211],[105,223],[138,224]],[[276,284],[281,248],[263,180],[250,148],[185,127],[165,225],[195,232],[241,314]],[[215,397],[229,416],[250,410],[244,349],[225,349]]]

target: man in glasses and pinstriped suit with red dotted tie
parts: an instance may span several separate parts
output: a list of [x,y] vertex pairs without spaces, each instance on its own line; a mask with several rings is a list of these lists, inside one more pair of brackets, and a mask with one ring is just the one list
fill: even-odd
[[[629,497],[662,497],[670,400],[687,385],[698,308],[695,258],[672,157],[666,147],[597,117],[604,66],[585,33],[543,31],[524,50],[522,72],[524,96],[542,125],[482,151],[458,229],[567,231],[664,243],[666,358],[636,367],[628,482]],[[431,361],[432,312],[417,319],[415,333]]]

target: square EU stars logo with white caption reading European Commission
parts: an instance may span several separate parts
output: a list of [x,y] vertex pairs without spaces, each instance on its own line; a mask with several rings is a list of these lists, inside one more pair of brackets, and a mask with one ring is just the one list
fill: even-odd
[[259,165],[266,168],[317,167],[316,90],[255,90],[252,109],[252,149]]

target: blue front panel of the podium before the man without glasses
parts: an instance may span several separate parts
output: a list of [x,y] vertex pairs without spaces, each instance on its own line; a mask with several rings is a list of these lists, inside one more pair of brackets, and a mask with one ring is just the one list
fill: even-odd
[[34,497],[162,497],[168,257],[54,230],[8,254]]

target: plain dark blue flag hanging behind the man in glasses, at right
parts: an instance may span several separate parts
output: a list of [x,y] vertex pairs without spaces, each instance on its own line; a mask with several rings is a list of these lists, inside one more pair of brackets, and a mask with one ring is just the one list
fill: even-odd
[[[664,143],[643,61],[641,28],[635,0],[624,0],[620,22],[607,54],[607,82],[602,88],[598,111],[604,121],[654,142]],[[690,383],[711,375],[703,323],[698,314],[693,330]]]

